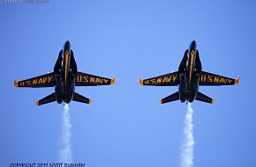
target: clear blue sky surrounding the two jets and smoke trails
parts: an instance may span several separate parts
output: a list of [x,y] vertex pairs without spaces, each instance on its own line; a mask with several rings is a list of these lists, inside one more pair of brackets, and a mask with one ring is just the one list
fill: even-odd
[[200,87],[194,102],[194,165],[256,166],[254,1],[63,1],[0,4],[0,164],[57,162],[64,105],[35,106],[53,88],[15,89],[13,79],[51,72],[65,40],[79,71],[116,84],[76,90],[70,104],[73,162],[89,167],[179,166],[186,105],[159,105],[177,87],[141,87],[177,70],[197,40],[202,68],[241,76],[237,86]]

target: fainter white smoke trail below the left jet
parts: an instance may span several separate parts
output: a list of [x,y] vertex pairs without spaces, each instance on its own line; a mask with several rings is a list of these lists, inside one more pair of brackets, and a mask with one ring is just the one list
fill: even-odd
[[72,163],[72,148],[71,148],[71,116],[69,113],[69,105],[64,104],[64,113],[62,114],[62,137],[61,137],[61,150],[59,152],[59,162]]

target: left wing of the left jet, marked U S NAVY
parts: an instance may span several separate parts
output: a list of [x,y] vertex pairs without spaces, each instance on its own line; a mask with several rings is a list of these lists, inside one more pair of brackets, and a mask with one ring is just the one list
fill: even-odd
[[41,76],[35,76],[30,79],[23,81],[14,80],[14,87],[30,87],[30,88],[41,88],[41,87],[53,87],[55,85],[54,73],[49,73]]

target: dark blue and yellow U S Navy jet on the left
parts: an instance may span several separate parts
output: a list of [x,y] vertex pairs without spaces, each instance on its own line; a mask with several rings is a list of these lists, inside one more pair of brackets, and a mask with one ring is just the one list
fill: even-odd
[[71,49],[71,44],[69,41],[66,41],[64,48],[58,54],[53,72],[19,82],[14,80],[14,87],[55,87],[55,92],[45,98],[41,98],[35,105],[44,105],[54,101],[58,104],[69,104],[72,100],[91,104],[91,99],[83,97],[75,92],[75,86],[98,86],[114,83],[115,77],[109,79],[102,76],[94,76],[79,72]]

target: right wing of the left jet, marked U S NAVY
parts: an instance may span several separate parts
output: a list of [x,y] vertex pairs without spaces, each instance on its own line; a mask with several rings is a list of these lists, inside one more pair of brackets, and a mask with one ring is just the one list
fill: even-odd
[[87,73],[77,72],[76,86],[99,86],[109,84],[115,84],[115,77],[109,79],[102,76],[94,76]]

